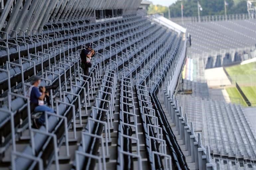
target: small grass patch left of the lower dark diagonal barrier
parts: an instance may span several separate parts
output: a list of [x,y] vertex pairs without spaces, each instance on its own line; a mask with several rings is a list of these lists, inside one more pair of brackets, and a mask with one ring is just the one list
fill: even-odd
[[241,96],[236,87],[228,87],[226,88],[226,91],[231,100],[231,103],[247,106],[246,102],[244,101],[243,97]]

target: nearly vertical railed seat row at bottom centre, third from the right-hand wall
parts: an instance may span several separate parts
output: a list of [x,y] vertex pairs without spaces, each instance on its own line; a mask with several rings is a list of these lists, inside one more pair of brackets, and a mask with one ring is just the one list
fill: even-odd
[[[117,169],[135,168],[133,163],[132,143],[135,143],[136,156],[138,162],[141,162],[140,141],[138,137],[138,121],[135,113],[135,106],[132,93],[131,77],[122,76],[120,79],[120,98],[119,98],[119,123],[118,123],[118,139],[117,139]],[[131,108],[131,109],[130,109]],[[133,144],[134,145],[134,144]],[[142,168],[139,165],[138,168]]]

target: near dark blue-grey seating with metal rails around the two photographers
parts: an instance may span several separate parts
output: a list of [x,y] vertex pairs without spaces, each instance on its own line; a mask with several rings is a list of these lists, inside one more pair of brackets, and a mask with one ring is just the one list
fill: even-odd
[[[82,30],[78,37],[78,24],[70,23],[71,26],[63,28],[60,23],[58,29],[50,27],[51,29],[43,31],[46,35],[42,36],[45,37],[41,43],[36,41],[38,45],[31,42],[31,47],[27,50],[16,49],[11,55],[9,53],[1,56],[2,94],[8,96],[2,95],[1,166],[10,166],[12,162],[13,169],[28,169],[37,165],[39,169],[59,169],[72,160],[72,166],[76,169],[94,166],[106,169],[113,166],[111,160],[115,158],[111,158],[110,153],[112,155],[116,149],[110,146],[115,145],[113,133],[118,133],[117,167],[126,166],[129,162],[130,167],[170,169],[173,163],[179,169],[187,167],[177,141],[172,140],[167,144],[163,135],[160,138],[160,131],[155,131],[158,119],[151,122],[151,118],[155,117],[152,115],[155,114],[154,109],[149,105],[152,97],[146,95],[146,91],[141,91],[147,90],[148,82],[149,87],[160,90],[165,76],[169,70],[175,69],[174,63],[178,63],[181,53],[186,49],[182,37],[137,16],[126,16],[97,24],[77,23],[81,24]],[[59,35],[55,35],[57,30]],[[25,36],[23,40],[29,42],[27,38]],[[90,68],[90,76],[84,76],[79,66],[79,52],[86,43],[92,43],[97,51],[93,67]],[[28,60],[21,62],[19,51]],[[8,71],[4,71],[5,69]],[[38,130],[31,128],[29,100],[25,93],[30,78],[36,74],[44,77],[41,85],[57,85],[56,89],[51,90],[52,106],[57,115],[46,113],[46,126]],[[133,89],[135,83],[132,77],[137,81],[137,91]],[[134,93],[138,95],[134,96]],[[136,102],[140,108],[138,112],[134,106],[129,105],[133,100],[139,101]],[[144,110],[145,107],[149,110]],[[145,115],[149,117],[144,117]],[[144,122],[140,130],[145,141],[136,132],[137,121]],[[131,122],[133,126],[129,125]],[[11,128],[7,128],[10,126]],[[158,135],[155,135],[156,132]],[[174,134],[170,132],[167,131],[166,134],[172,138]],[[132,149],[134,145],[127,145],[134,140],[135,143],[145,143],[146,160],[139,154],[139,145],[136,154]],[[23,143],[22,146],[20,142]],[[73,148],[72,143],[76,142],[79,146],[70,150]],[[174,148],[171,149],[172,147]],[[8,152],[10,149],[14,152]],[[98,150],[100,156],[94,156]],[[62,155],[59,154],[60,151]],[[171,159],[169,152],[172,152],[174,158]],[[75,157],[72,159],[71,155]],[[128,161],[134,160],[133,157],[137,157],[137,161]]]

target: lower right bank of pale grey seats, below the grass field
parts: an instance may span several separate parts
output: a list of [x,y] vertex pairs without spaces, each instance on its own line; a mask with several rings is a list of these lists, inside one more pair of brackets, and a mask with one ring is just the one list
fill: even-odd
[[214,154],[255,158],[255,136],[241,106],[188,95],[177,100]]

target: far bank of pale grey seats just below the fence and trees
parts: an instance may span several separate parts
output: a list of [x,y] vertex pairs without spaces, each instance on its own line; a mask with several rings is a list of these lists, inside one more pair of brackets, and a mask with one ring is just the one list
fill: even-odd
[[189,53],[211,52],[219,49],[253,47],[256,20],[217,21],[185,24],[192,35]]

